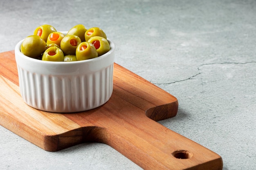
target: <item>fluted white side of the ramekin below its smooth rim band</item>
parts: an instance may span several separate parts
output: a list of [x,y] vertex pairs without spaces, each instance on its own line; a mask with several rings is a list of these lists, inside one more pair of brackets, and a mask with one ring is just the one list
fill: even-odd
[[58,113],[79,112],[106,103],[113,91],[113,64],[86,75],[31,73],[18,66],[20,94],[29,106]]

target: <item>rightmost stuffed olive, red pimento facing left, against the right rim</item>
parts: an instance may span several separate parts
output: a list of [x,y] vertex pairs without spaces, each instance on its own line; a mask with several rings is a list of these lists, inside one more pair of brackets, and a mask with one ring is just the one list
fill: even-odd
[[92,43],[97,50],[99,56],[107,53],[110,50],[110,45],[108,40],[103,37],[94,36],[88,40],[88,42]]

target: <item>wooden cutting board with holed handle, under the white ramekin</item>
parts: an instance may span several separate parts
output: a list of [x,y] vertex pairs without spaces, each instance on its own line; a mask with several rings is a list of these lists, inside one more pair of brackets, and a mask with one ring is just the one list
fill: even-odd
[[0,124],[44,150],[102,142],[145,170],[222,170],[218,154],[156,122],[177,114],[177,99],[118,64],[106,104],[61,114],[23,102],[14,51],[0,61]]

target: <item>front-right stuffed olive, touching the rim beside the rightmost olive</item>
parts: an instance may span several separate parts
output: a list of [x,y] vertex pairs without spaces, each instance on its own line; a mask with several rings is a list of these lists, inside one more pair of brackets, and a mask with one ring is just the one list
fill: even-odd
[[77,46],[76,48],[77,60],[88,60],[95,57],[98,57],[98,53],[92,43],[82,42]]

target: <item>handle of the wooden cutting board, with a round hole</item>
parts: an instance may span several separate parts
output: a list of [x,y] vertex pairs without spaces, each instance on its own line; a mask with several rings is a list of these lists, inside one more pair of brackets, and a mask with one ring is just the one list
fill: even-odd
[[222,170],[215,152],[132,110],[129,119],[120,115],[108,130],[101,129],[103,143],[145,170]]

